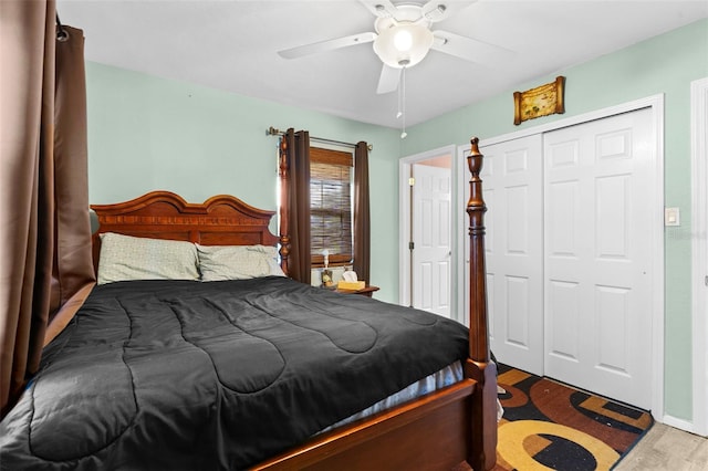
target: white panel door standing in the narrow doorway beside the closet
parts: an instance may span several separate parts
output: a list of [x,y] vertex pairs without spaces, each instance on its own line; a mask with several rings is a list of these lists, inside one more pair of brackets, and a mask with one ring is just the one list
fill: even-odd
[[450,316],[449,168],[413,166],[413,305]]

